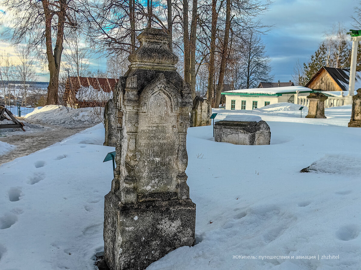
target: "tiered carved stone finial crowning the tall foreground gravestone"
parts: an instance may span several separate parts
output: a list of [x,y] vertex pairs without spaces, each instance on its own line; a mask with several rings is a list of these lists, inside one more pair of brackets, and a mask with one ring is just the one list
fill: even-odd
[[146,28],[137,39],[140,47],[129,55],[130,68],[176,69],[178,57],[169,50],[169,36],[163,29]]

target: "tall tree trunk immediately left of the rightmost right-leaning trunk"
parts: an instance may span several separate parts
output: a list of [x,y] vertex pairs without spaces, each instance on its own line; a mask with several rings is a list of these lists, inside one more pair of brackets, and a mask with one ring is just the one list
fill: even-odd
[[210,32],[210,51],[209,51],[209,64],[208,64],[208,86],[207,86],[207,99],[212,102],[213,96],[213,80],[214,80],[214,53],[216,48],[216,32],[217,32],[217,0],[212,0],[212,27]]

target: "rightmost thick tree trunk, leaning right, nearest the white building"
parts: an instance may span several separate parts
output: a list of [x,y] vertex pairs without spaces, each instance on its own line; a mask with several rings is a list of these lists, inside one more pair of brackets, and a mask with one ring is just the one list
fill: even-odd
[[226,63],[227,63],[227,50],[228,50],[228,38],[229,38],[229,30],[231,28],[231,0],[227,0],[227,8],[226,8],[226,28],[225,28],[225,37],[223,41],[222,48],[222,58],[221,58],[221,68],[219,69],[219,79],[218,79],[218,87],[216,91],[216,98],[214,103],[212,104],[213,108],[219,107],[219,102],[221,101],[221,93],[223,91],[223,82],[224,76],[226,72]]

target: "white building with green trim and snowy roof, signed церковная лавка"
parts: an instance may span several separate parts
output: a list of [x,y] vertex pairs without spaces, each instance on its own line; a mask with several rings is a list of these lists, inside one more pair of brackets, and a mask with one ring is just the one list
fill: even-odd
[[285,86],[231,90],[222,92],[222,95],[226,97],[226,110],[252,110],[279,102],[298,104],[301,96],[306,97],[313,92],[303,86]]

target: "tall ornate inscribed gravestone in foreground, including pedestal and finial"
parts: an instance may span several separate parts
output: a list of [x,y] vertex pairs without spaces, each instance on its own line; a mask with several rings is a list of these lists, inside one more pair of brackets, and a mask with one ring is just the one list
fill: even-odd
[[112,270],[145,269],[195,240],[185,173],[190,87],[163,30],[147,28],[137,38],[114,93],[117,167],[104,208],[104,258]]

